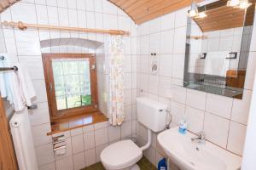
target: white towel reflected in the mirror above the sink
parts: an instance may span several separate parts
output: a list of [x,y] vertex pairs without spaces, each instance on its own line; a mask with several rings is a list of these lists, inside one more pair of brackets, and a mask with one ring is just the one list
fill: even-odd
[[230,68],[230,59],[226,59],[229,56],[229,51],[207,53],[204,73],[207,75],[226,77],[226,72]]

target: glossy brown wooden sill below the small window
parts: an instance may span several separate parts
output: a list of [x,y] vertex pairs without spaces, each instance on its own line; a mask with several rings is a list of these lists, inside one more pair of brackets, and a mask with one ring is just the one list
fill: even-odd
[[73,116],[59,121],[51,122],[51,132],[47,135],[55,133],[61,133],[68,130],[72,130],[79,127],[85,127],[98,122],[106,122],[108,118],[100,111],[96,111],[90,114],[82,116]]

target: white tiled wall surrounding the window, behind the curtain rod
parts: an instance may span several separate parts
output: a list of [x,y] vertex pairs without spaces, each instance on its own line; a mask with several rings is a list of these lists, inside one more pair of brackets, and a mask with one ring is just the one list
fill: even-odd
[[[104,42],[105,39],[102,35],[96,34],[31,29],[20,31],[3,28],[9,58],[13,62],[21,62],[27,66],[37,93],[34,103],[38,105],[38,110],[30,111],[30,120],[40,169],[70,170],[87,167],[99,161],[100,150],[106,147],[108,142],[131,136],[136,137],[136,130],[132,131],[132,129],[136,129],[136,123],[132,123],[136,121],[136,113],[133,113],[132,108],[135,108],[137,96],[137,28],[127,14],[118,10],[107,0],[29,0],[15,3],[11,8],[5,10],[1,14],[1,20],[131,31],[131,37],[125,37],[125,61],[128,62],[125,62],[125,82],[127,82],[125,84],[127,86],[125,87],[126,119],[124,127],[109,127],[108,122],[103,122],[95,126],[68,131],[65,133],[67,154],[54,156],[51,139],[46,135],[50,131],[50,124],[41,53],[88,53],[88,49],[64,46],[45,48],[44,51],[41,51],[40,41],[61,37],[88,38],[100,42]],[[51,41],[50,43],[53,45],[55,42]],[[90,50],[90,52],[95,53],[94,50]]]

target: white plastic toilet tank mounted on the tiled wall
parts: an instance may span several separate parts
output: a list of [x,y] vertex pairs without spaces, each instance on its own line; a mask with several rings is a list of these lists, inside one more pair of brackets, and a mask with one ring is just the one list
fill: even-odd
[[155,133],[166,127],[167,105],[146,97],[137,98],[137,120]]

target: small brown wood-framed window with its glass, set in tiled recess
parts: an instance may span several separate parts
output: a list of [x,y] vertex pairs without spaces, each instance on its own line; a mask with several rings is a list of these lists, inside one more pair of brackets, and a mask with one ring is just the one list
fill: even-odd
[[97,110],[95,54],[43,54],[51,120]]

